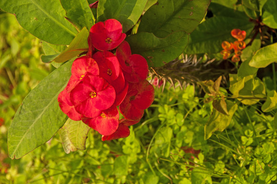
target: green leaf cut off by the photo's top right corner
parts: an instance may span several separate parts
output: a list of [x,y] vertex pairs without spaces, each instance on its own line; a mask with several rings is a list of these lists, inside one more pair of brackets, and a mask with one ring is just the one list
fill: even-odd
[[270,27],[277,29],[277,1],[267,0],[262,9],[262,22]]

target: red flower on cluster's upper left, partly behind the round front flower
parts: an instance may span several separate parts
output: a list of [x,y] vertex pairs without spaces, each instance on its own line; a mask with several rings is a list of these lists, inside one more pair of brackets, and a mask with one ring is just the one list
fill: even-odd
[[77,58],[71,68],[71,78],[67,83],[66,91],[70,93],[72,89],[84,78],[87,73],[92,75],[99,75],[99,68],[93,58],[86,56]]

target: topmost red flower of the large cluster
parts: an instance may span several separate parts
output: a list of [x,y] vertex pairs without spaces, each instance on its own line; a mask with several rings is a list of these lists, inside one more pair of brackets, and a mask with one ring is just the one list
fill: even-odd
[[122,33],[122,25],[118,20],[108,19],[91,27],[89,37],[96,49],[108,51],[117,48],[126,38],[126,34]]

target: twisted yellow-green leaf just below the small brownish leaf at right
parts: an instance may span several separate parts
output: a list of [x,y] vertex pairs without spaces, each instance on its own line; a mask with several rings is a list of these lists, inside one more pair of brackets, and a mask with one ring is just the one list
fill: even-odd
[[213,109],[212,115],[205,125],[205,140],[209,139],[215,131],[225,130],[230,124],[235,111],[238,109],[238,105],[228,100],[226,100],[226,104],[229,115],[225,115]]

